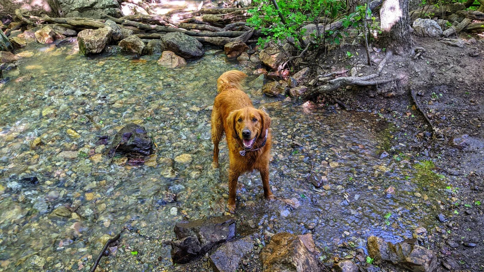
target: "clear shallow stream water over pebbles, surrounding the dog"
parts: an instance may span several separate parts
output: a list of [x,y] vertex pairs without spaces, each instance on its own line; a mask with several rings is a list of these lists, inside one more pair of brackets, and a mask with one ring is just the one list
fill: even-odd
[[[102,267],[168,269],[163,240],[174,237],[175,223],[226,211],[225,142],[221,167],[211,166],[215,82],[227,70],[251,71],[217,50],[180,69],[159,67],[158,56],[84,57],[75,45],[24,51],[33,56],[4,72],[10,81],[0,84],[0,271],[36,271],[34,256],[49,271],[89,271],[106,240],[123,229],[122,247]],[[393,128],[381,117],[285,102],[262,95],[255,76],[247,82],[256,107],[272,117],[277,200],[264,199],[258,173],[241,176],[241,230],[312,232],[317,246],[334,249],[349,241],[364,246],[370,235],[400,241],[435,221],[443,181],[405,156],[379,159]],[[152,135],[155,155],[144,166],[122,166],[118,157],[110,165],[96,142],[129,122]],[[38,137],[43,145],[30,149]],[[64,159],[61,151],[82,156]],[[315,189],[310,173],[326,177],[326,186]],[[20,182],[33,176],[37,184]],[[393,195],[384,192],[389,186]],[[177,201],[166,202],[164,191]]]

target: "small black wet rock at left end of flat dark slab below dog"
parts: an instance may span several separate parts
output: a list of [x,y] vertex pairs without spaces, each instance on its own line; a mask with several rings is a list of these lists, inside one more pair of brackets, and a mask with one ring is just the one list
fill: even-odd
[[190,235],[171,242],[171,259],[173,263],[189,263],[199,255],[201,255],[201,248],[197,235]]

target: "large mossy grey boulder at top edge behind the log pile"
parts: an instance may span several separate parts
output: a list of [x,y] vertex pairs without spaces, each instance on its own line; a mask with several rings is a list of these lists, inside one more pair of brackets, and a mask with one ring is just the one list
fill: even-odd
[[57,0],[66,17],[101,19],[103,14],[121,17],[118,0]]

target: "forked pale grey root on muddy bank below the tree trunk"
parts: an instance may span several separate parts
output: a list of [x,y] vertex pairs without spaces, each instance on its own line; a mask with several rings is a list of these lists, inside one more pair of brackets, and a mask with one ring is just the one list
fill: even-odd
[[332,91],[336,91],[339,88],[343,86],[374,86],[374,85],[380,85],[384,83],[389,83],[389,82],[395,82],[395,81],[400,81],[405,78],[403,75],[398,75],[394,78],[388,78],[388,79],[381,79],[381,80],[376,80],[375,78],[381,75],[381,72],[383,71],[383,67],[385,67],[385,64],[387,63],[388,59],[392,56],[392,52],[388,51],[387,54],[385,55],[385,58],[381,60],[381,62],[378,64],[378,70],[376,73],[368,75],[368,76],[341,76],[337,77],[335,79],[332,79],[328,81],[328,84],[321,85],[317,89],[311,91],[308,93],[307,98],[319,94],[319,93],[328,93]]

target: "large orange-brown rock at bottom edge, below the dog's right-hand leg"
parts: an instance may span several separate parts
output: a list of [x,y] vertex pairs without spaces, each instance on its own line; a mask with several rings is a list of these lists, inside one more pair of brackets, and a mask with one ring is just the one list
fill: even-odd
[[297,235],[287,232],[272,236],[260,254],[263,272],[318,272],[318,261]]

